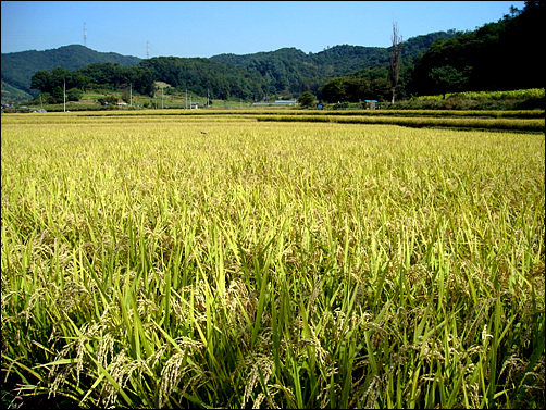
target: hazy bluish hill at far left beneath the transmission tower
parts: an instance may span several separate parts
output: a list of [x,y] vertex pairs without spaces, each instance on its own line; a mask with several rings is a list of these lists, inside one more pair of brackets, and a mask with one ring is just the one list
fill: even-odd
[[51,71],[63,67],[74,71],[92,63],[119,63],[128,66],[138,64],[140,60],[138,57],[95,51],[80,45],[45,51],[2,53],[2,83],[30,95],[36,94],[36,90],[30,89],[30,79],[36,72],[41,70]]

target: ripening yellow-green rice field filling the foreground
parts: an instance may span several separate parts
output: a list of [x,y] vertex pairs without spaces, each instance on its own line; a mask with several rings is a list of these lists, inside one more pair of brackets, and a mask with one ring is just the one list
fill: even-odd
[[7,407],[545,405],[544,133],[48,113],[1,136]]

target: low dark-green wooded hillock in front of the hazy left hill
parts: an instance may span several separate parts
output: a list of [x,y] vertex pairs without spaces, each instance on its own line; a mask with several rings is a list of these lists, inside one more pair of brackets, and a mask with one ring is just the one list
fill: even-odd
[[175,91],[189,90],[200,96],[211,94],[223,100],[257,100],[268,87],[259,75],[229,64],[208,59],[157,57],[134,66],[94,63],[73,72],[62,67],[42,70],[33,75],[32,88],[38,89],[47,102],[58,103],[62,102],[64,90],[69,101],[77,101],[83,92],[92,89],[131,88],[134,92],[152,97],[156,82],[167,83]]

